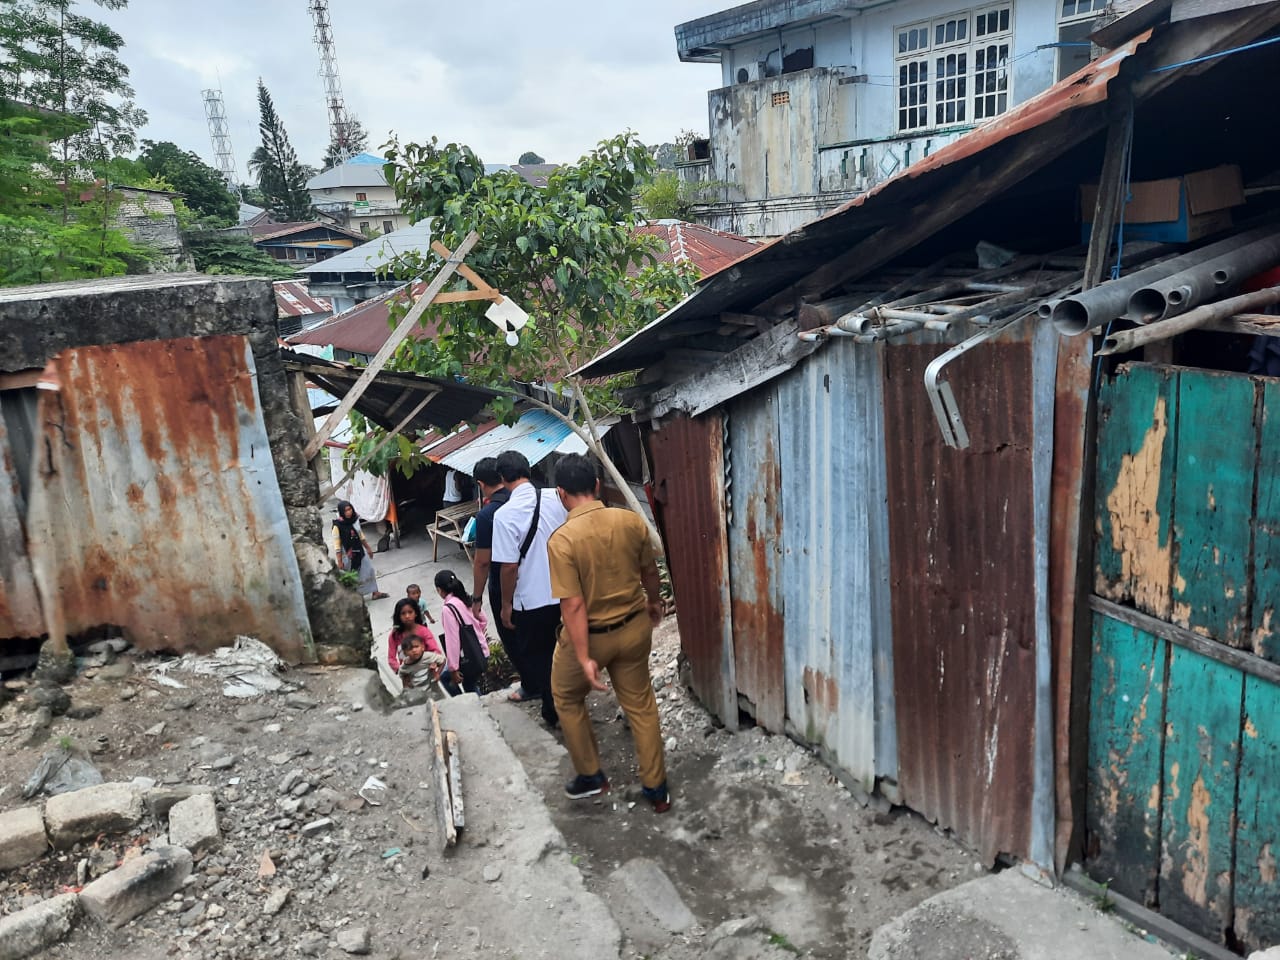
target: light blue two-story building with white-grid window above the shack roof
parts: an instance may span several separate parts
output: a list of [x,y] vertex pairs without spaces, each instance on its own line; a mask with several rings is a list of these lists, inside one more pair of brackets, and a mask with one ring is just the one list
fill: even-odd
[[755,0],[676,27],[717,63],[682,179],[701,223],[776,237],[951,143],[1091,59],[1132,0]]

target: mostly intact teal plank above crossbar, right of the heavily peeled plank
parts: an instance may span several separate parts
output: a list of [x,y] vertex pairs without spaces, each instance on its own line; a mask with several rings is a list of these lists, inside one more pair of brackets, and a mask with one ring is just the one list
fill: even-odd
[[1179,626],[1248,645],[1254,380],[1181,370],[1174,484],[1174,605]]

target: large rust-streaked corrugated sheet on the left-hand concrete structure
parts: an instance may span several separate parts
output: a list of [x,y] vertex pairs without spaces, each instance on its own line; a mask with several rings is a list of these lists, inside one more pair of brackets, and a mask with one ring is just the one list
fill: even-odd
[[59,353],[28,524],[51,637],[101,623],[145,649],[255,636],[314,659],[243,337]]

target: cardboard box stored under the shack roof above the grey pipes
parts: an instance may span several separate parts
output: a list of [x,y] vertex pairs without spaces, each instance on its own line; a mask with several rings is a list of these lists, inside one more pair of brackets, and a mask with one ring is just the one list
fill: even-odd
[[[1097,184],[1080,187],[1082,237],[1089,239]],[[1184,243],[1231,225],[1231,207],[1244,202],[1244,182],[1234,164],[1164,180],[1129,184],[1124,236],[1129,241]]]

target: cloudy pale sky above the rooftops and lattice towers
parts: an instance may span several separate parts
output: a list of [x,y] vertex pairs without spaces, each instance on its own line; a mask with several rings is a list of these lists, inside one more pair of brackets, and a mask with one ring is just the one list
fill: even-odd
[[[645,142],[707,131],[719,69],[684,64],[673,28],[732,0],[330,0],[348,109],[376,148],[390,132],[572,161],[626,128]],[[86,6],[88,6],[86,4]],[[88,10],[86,10],[88,12]],[[201,91],[220,86],[236,161],[259,142],[261,77],[303,163],[329,140],[307,0],[129,0],[93,8],[125,41],[141,136],[212,161]]]

